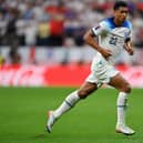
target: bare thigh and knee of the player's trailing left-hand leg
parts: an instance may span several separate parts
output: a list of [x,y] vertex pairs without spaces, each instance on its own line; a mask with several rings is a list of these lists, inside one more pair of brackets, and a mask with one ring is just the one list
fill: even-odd
[[86,98],[90,95],[93,91],[98,90],[96,83],[92,82],[84,82],[81,88],[78,90],[78,94],[81,99]]

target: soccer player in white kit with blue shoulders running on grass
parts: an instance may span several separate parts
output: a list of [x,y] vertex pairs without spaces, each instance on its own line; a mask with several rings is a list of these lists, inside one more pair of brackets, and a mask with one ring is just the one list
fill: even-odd
[[[127,3],[124,1],[116,1],[113,6],[113,17],[104,19],[98,27],[86,31],[83,37],[85,43],[96,50],[91,65],[91,73],[83,85],[69,94],[57,110],[49,111],[49,119],[47,122],[48,132],[51,132],[54,122],[63,113],[105,83],[119,90],[115,131],[126,135],[135,133],[135,131],[125,123],[125,111],[131,85],[113,67],[115,58],[123,49],[125,49],[130,55],[134,53],[131,43],[132,24],[126,20],[127,14]],[[95,38],[98,38],[99,41]]]

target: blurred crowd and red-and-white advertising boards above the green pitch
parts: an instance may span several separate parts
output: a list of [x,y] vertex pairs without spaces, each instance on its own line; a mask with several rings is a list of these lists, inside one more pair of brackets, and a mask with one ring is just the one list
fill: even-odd
[[[82,37],[111,16],[112,6],[112,0],[1,0],[0,85],[80,85],[95,53]],[[129,6],[135,54],[123,51],[116,65],[141,88],[143,2]]]

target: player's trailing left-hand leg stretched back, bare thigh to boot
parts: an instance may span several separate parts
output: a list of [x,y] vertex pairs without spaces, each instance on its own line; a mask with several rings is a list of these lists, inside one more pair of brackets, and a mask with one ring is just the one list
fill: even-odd
[[51,132],[53,123],[63,113],[71,110],[81,99],[85,99],[96,89],[98,89],[98,85],[95,83],[85,82],[79,90],[70,93],[57,110],[49,112],[49,120],[47,123],[48,132]]

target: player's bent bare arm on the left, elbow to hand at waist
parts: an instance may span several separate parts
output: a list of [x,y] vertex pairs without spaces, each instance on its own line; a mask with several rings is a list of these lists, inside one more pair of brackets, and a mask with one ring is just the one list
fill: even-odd
[[103,49],[99,45],[99,43],[95,39],[95,34],[93,33],[92,30],[86,31],[83,39],[86,44],[91,45],[93,49],[99,51],[105,59],[108,59],[110,55],[112,55],[112,52],[110,50]]

